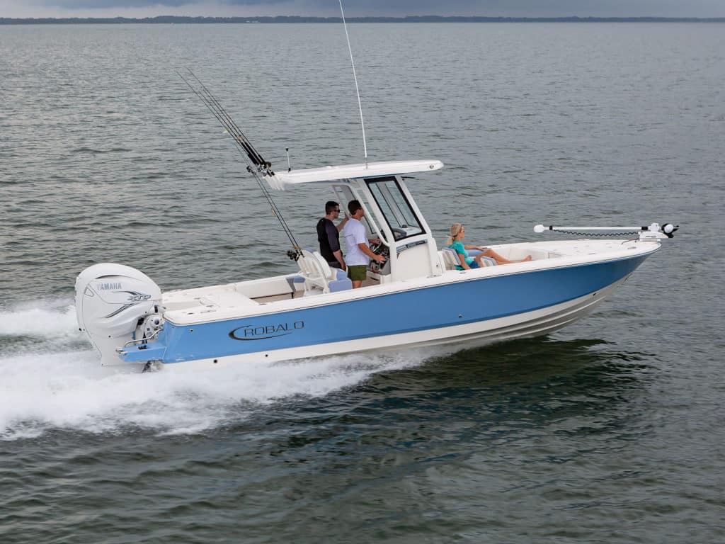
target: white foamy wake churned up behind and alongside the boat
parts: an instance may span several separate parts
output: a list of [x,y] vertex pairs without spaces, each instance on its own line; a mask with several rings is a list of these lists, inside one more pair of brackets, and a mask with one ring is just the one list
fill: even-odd
[[[17,319],[16,319],[17,318]],[[22,323],[22,324],[20,324]],[[67,307],[19,308],[0,314],[2,334],[41,335],[47,353],[3,355],[0,346],[0,440],[36,437],[50,429],[93,433],[203,432],[290,397],[318,397],[371,374],[421,363],[430,351],[344,355],[259,363],[209,371],[109,374],[94,350],[53,353],[57,337],[78,336]],[[12,332],[14,331],[14,332]]]

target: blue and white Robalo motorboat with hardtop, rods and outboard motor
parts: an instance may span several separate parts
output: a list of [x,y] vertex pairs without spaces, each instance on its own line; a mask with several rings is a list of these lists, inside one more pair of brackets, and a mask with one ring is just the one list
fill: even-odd
[[[193,73],[179,75],[247,160],[290,239],[297,271],[162,292],[128,265],[91,265],[75,281],[75,308],[102,366],[209,368],[405,347],[459,350],[548,334],[594,310],[677,229],[550,226],[634,237],[497,244],[491,249],[508,260],[531,260],[481,259],[487,265],[460,270],[456,252],[436,243],[407,184],[413,173],[439,175],[440,160],[368,162],[365,147],[359,164],[276,171]],[[363,125],[363,142],[364,134]],[[362,287],[353,289],[343,271],[294,239],[270,191],[302,185],[333,191],[342,206],[353,199],[363,206],[368,234],[379,239],[370,249],[385,260],[370,262]]]

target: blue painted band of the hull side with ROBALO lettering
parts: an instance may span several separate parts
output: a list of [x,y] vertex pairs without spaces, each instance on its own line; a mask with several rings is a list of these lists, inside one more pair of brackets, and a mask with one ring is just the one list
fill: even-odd
[[131,348],[122,358],[178,363],[488,321],[597,292],[628,276],[647,256],[457,281],[265,316],[192,326],[167,322],[146,349]]

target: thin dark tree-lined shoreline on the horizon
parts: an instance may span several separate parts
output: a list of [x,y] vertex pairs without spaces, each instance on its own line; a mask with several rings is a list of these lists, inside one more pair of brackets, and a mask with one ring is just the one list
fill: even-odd
[[[123,24],[218,24],[341,22],[340,17],[0,17],[0,25],[123,25]],[[725,17],[348,17],[347,22],[725,22]]]

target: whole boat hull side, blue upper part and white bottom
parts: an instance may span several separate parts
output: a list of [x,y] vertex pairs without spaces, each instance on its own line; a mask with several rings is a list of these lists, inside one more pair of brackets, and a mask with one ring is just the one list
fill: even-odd
[[167,319],[154,340],[126,348],[120,358],[218,365],[403,346],[463,348],[547,334],[589,313],[650,253],[471,279],[459,273],[428,287],[219,321]]

